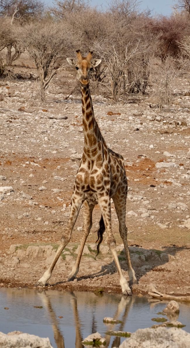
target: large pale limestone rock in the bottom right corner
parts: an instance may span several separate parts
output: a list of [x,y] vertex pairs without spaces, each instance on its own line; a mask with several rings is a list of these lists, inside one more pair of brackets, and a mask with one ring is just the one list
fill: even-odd
[[190,333],[172,327],[139,329],[131,334],[119,348],[189,348]]

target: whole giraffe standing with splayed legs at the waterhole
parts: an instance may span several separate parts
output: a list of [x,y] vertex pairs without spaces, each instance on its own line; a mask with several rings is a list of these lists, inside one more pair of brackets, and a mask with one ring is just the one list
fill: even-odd
[[[106,231],[106,242],[110,247],[113,259],[118,269],[122,293],[125,295],[131,295],[129,285],[137,284],[137,279],[135,271],[132,268],[127,243],[127,227],[125,223],[127,177],[124,168],[124,161],[121,155],[107,147],[94,118],[92,98],[89,90],[89,78],[90,72],[101,63],[101,60],[92,59],[92,51],[89,51],[86,57],[82,56],[80,50],[77,50],[76,53],[76,61],[73,58],[67,58],[67,61],[77,70],[77,79],[80,83],[84,132],[83,155],[75,179],[74,190],[71,197],[70,216],[66,230],[63,233],[60,245],[49,268],[38,280],[36,286],[45,285],[47,280],[51,277],[52,270],[59,259],[61,252],[69,243],[72,229],[77,220],[81,205],[83,204],[83,237],[81,239],[76,263],[69,274],[68,281],[76,278],[84,245],[92,227],[93,209],[96,204],[99,204],[102,217],[100,220],[100,229],[98,230],[97,251],[99,252],[99,246],[103,239],[103,232]],[[115,205],[116,214],[119,220],[119,232],[126,252],[129,284],[123,275],[116,253],[116,243],[111,227],[111,198]]]

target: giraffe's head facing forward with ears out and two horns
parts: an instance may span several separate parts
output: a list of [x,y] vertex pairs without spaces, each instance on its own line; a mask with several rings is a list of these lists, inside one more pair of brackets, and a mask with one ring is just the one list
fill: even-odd
[[74,58],[67,58],[69,64],[75,67],[77,70],[77,79],[81,85],[88,85],[90,72],[95,66],[101,63],[101,59],[92,59],[92,51],[89,51],[86,57],[83,57],[80,50],[77,49],[77,60]]

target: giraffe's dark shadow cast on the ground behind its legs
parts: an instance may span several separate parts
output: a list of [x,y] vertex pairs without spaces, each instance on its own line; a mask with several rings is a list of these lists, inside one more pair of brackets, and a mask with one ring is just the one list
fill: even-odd
[[[132,250],[131,250],[132,249]],[[170,269],[158,268],[174,259],[175,255],[182,250],[190,249],[187,246],[163,246],[161,250],[145,249],[139,247],[130,247],[130,255],[132,266],[135,269],[136,278],[139,281],[146,273],[150,271],[155,272],[171,272]],[[127,271],[127,261],[125,251],[123,250],[118,255],[121,268]],[[103,261],[103,260],[102,260]],[[77,280],[93,279],[95,277],[102,277],[117,273],[117,268],[114,261],[104,264],[98,272],[90,273],[84,276],[77,277]]]

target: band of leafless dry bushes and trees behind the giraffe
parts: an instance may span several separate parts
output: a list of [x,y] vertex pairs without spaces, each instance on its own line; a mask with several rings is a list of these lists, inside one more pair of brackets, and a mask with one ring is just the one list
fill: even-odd
[[140,12],[132,0],[114,0],[105,10],[85,0],[56,0],[46,9],[39,0],[0,0],[0,23],[0,76],[11,72],[14,77],[12,64],[28,53],[41,100],[52,77],[66,66],[66,56],[78,47],[83,52],[92,47],[102,59],[92,74],[92,90],[114,102],[148,96],[161,109],[172,104],[176,77],[189,72],[187,0],[179,0],[170,17]]

